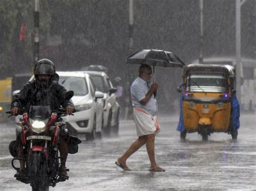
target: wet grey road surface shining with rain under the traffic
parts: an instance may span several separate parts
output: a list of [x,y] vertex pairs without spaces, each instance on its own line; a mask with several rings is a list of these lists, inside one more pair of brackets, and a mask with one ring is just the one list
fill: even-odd
[[[156,160],[166,172],[149,172],[145,146],[134,153],[124,172],[114,161],[136,139],[133,122],[122,121],[117,138],[103,138],[79,145],[70,154],[70,179],[50,190],[256,190],[256,115],[242,114],[238,140],[227,133],[214,133],[202,143],[197,133],[181,142],[176,131],[178,117],[159,117]],[[0,190],[31,190],[13,178],[8,153],[15,129],[0,124]]]

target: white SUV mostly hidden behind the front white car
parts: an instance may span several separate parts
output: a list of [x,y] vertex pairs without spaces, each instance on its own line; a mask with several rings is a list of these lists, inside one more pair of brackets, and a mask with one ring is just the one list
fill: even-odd
[[116,101],[117,89],[113,87],[109,76],[105,72],[82,71],[90,74],[93,83],[98,91],[104,94],[104,125],[103,130],[106,135],[118,135],[120,105]]

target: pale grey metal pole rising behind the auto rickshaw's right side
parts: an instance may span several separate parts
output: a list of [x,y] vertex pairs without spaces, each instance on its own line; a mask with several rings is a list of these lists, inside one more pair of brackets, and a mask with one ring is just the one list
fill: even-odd
[[237,98],[241,103],[241,1],[235,0],[235,49],[237,70]]

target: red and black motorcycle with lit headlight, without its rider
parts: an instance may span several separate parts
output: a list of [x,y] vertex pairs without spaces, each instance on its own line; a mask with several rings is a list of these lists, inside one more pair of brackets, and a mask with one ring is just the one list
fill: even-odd
[[[67,99],[73,94],[68,92]],[[7,112],[10,114],[10,111]],[[23,121],[17,123],[22,127],[21,139],[25,158],[18,158],[15,142],[10,143],[10,153],[14,156],[11,165],[16,171],[19,168],[15,166],[16,160],[25,160],[25,172],[16,179],[23,183],[30,183],[32,190],[49,190],[49,187],[55,187],[59,181],[65,181],[59,175],[60,155],[58,150],[58,137],[60,129],[65,129],[66,124],[57,120],[65,114],[63,108],[52,111],[49,105],[32,105],[28,112],[23,113]],[[81,141],[67,135],[69,144],[69,153],[78,152],[78,144]],[[69,171],[69,169],[66,169]]]

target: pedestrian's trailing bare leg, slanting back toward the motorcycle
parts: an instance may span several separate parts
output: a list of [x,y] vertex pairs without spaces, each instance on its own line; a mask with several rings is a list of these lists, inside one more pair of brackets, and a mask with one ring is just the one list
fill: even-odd
[[140,147],[142,147],[146,143],[146,137],[141,136],[136,141],[134,141],[131,146],[127,149],[127,151],[122,155],[122,157],[118,158],[117,161],[122,164],[126,169],[129,167],[126,165],[126,160]]

